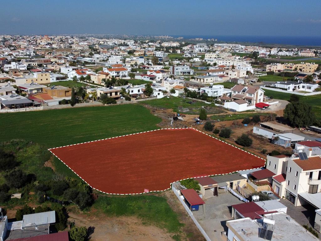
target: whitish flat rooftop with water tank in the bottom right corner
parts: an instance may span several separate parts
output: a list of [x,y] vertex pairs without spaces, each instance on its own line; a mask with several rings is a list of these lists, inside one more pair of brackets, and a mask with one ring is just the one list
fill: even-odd
[[[275,228],[272,235],[272,240],[305,240],[314,241],[319,240],[317,237],[312,235],[310,232],[306,232],[299,223],[294,219],[289,221],[289,215],[284,212],[278,212],[273,214],[266,214],[264,217],[275,220]],[[227,226],[234,230],[242,238],[242,240],[250,241],[262,241],[263,238],[258,237],[259,231],[263,225],[263,219],[252,220],[250,218],[234,219],[226,222]],[[246,231],[246,234],[242,232]]]

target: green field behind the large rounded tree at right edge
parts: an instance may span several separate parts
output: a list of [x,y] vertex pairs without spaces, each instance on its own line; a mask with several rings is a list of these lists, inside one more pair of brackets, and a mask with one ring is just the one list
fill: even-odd
[[[273,96],[273,99],[277,100],[290,100],[291,94],[278,92],[274,90],[266,90],[264,89],[266,96]],[[311,95],[311,96],[301,96],[298,95],[300,100],[311,105],[313,107],[314,112],[316,113],[316,117],[318,120],[321,120],[321,94]]]

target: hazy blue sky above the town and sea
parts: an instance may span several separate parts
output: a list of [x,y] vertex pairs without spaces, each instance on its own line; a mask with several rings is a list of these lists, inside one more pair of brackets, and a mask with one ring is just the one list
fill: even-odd
[[0,34],[321,36],[321,1],[0,0]]

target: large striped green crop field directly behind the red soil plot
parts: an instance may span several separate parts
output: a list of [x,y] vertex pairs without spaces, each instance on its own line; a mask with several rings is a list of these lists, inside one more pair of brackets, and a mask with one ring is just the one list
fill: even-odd
[[0,123],[6,128],[0,139],[24,139],[57,147],[156,129],[160,121],[136,104],[3,113]]

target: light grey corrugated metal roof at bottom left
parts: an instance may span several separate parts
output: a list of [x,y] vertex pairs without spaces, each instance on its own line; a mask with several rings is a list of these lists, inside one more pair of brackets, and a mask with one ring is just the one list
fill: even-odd
[[23,215],[22,228],[32,227],[56,222],[55,211],[40,212]]

